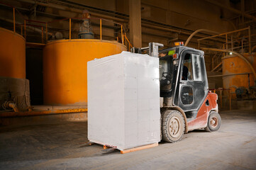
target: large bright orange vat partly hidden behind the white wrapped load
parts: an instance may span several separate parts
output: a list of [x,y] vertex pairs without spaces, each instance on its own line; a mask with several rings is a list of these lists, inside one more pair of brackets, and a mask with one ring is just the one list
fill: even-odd
[[87,62],[125,50],[125,45],[108,40],[74,39],[48,42],[43,49],[44,103],[87,104]]

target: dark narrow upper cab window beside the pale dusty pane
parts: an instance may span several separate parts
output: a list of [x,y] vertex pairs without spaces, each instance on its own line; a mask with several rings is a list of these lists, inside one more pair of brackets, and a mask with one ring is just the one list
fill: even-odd
[[183,67],[182,67],[182,80],[188,81],[193,80],[192,74],[192,62],[191,54],[187,53],[184,57]]

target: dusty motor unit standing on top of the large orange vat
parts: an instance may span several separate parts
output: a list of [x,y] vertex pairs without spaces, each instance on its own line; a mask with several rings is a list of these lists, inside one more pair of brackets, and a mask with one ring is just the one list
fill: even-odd
[[91,15],[89,11],[84,10],[82,13],[83,23],[79,27],[79,39],[94,39],[94,33],[91,28]]

